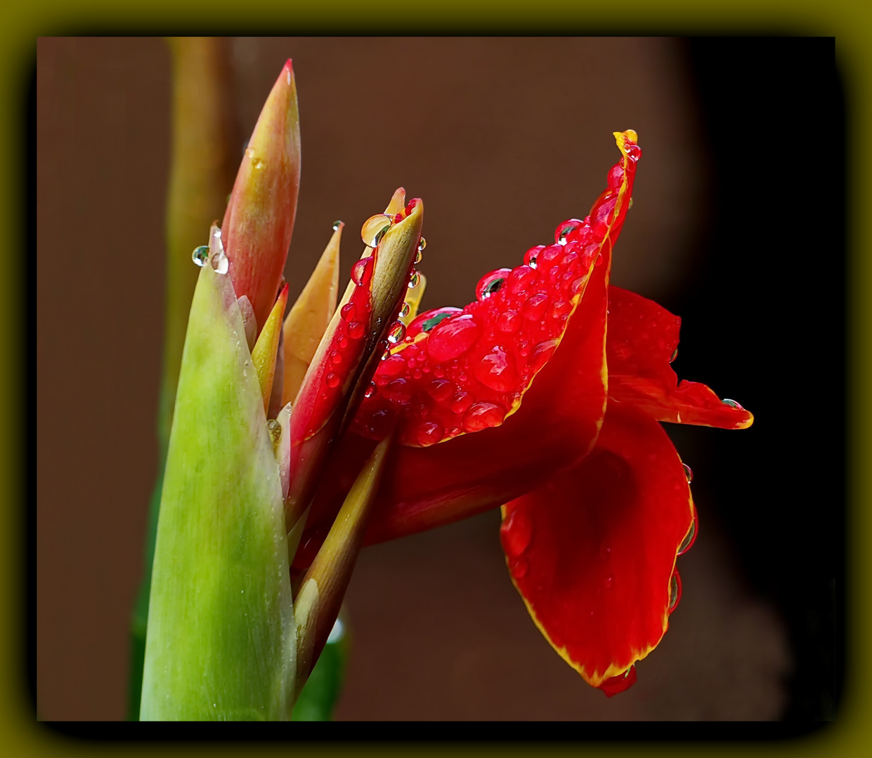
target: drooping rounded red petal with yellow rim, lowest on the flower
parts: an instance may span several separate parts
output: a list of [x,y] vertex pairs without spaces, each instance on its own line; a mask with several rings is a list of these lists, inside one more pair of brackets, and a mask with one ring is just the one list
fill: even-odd
[[589,456],[502,513],[509,572],[536,626],[584,680],[614,689],[675,606],[693,503],[669,437],[651,416],[610,406]]

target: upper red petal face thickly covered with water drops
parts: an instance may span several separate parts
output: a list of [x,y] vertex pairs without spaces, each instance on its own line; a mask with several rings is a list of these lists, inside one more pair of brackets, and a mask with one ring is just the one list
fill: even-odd
[[[555,243],[531,247],[521,266],[486,274],[466,308],[427,311],[407,329],[393,324],[392,348],[382,356],[354,430],[384,437],[399,414],[401,443],[428,446],[501,424],[554,352],[592,267],[602,262],[622,182],[618,165],[609,175],[610,191],[587,218],[564,221]],[[364,242],[377,226],[364,224]]]

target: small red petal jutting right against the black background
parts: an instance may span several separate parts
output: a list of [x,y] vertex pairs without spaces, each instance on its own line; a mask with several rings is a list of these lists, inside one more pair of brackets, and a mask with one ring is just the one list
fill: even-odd
[[644,410],[657,421],[746,429],[754,417],[699,382],[678,383],[670,361],[681,319],[656,302],[609,288],[609,403]]

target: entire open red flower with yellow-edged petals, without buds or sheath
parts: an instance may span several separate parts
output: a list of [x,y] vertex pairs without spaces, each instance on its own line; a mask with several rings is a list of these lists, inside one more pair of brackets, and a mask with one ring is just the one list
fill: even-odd
[[680,320],[609,286],[641,150],[584,220],[484,276],[462,310],[419,315],[380,363],[312,506],[309,565],[375,440],[396,422],[367,543],[502,506],[514,585],[555,650],[615,694],[678,603],[696,515],[690,470],[658,422],[742,429],[753,416],[670,367]]

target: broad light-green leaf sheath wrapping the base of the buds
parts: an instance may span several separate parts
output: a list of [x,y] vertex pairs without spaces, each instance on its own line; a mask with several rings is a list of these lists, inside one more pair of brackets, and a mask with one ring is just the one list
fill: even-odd
[[278,467],[233,286],[207,263],[167,450],[140,717],[288,719],[295,672]]

